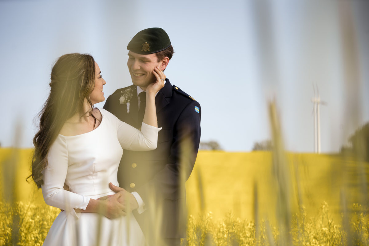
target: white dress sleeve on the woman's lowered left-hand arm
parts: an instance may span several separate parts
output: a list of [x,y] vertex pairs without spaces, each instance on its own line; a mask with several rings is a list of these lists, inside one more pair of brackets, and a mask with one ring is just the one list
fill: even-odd
[[63,186],[68,170],[68,146],[65,136],[58,135],[48,154],[48,164],[41,186],[46,204],[76,215],[73,208],[86,209],[90,198],[67,190]]

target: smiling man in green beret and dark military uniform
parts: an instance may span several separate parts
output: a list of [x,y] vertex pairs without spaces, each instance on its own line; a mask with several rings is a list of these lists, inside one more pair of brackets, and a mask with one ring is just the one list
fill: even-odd
[[[155,82],[173,55],[168,34],[161,28],[138,32],[128,43],[127,66],[132,85],[116,90],[104,105],[121,121],[140,129],[146,87]],[[124,150],[118,169],[122,202],[132,210],[149,245],[180,245],[186,235],[184,182],[193,169],[200,142],[200,104],[165,79],[156,94],[158,147],[148,152]],[[128,212],[128,211],[127,211]]]

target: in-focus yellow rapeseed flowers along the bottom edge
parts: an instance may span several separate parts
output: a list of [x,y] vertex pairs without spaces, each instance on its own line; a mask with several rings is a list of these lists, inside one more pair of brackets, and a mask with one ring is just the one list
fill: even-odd
[[[307,218],[304,207],[293,215],[289,245],[369,245],[369,221],[361,205],[352,206],[349,231],[331,219],[323,202],[317,215]],[[0,245],[42,245],[60,210],[47,205],[0,203]],[[235,218],[231,213],[214,221],[212,213],[189,216],[187,238],[182,245],[281,245],[280,231],[268,221],[256,226],[254,220]]]

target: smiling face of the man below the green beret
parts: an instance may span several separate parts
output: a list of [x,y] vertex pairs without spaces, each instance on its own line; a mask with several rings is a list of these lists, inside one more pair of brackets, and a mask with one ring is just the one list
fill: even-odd
[[154,54],[141,55],[135,52],[128,52],[127,66],[130,71],[132,83],[146,90],[146,87],[156,81],[152,74],[154,67],[160,65],[158,58]]

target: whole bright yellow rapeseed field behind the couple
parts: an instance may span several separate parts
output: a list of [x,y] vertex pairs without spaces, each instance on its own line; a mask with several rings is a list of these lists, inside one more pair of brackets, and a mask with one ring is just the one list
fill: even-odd
[[[59,213],[25,181],[31,154],[0,149],[0,245],[42,245]],[[285,155],[282,186],[271,152],[200,151],[186,183],[183,245],[369,245],[369,164]],[[288,208],[282,214],[280,194]]]

